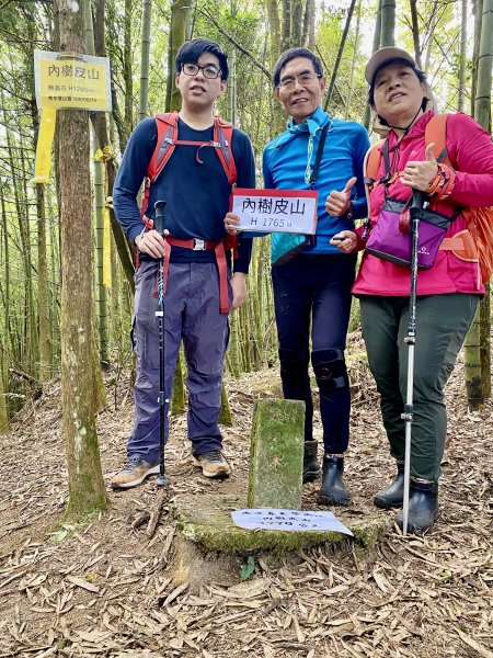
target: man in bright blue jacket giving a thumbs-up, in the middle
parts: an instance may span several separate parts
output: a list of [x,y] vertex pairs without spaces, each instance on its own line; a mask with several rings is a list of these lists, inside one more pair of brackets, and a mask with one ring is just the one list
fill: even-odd
[[[311,364],[320,393],[323,426],[323,475],[319,499],[349,504],[344,453],[349,440],[351,395],[344,349],[351,310],[356,256],[342,254],[331,238],[366,216],[363,161],[368,135],[354,122],[332,118],[321,107],[325,77],[318,57],[306,48],[283,53],[274,67],[275,93],[290,118],[287,129],[264,149],[266,188],[310,189],[321,135],[326,128],[314,190],[318,225],[314,246],[286,264],[273,263],[272,277],[279,340],[284,396],[306,402],[303,481],[320,475],[313,440]],[[273,253],[285,234],[273,234]]]

